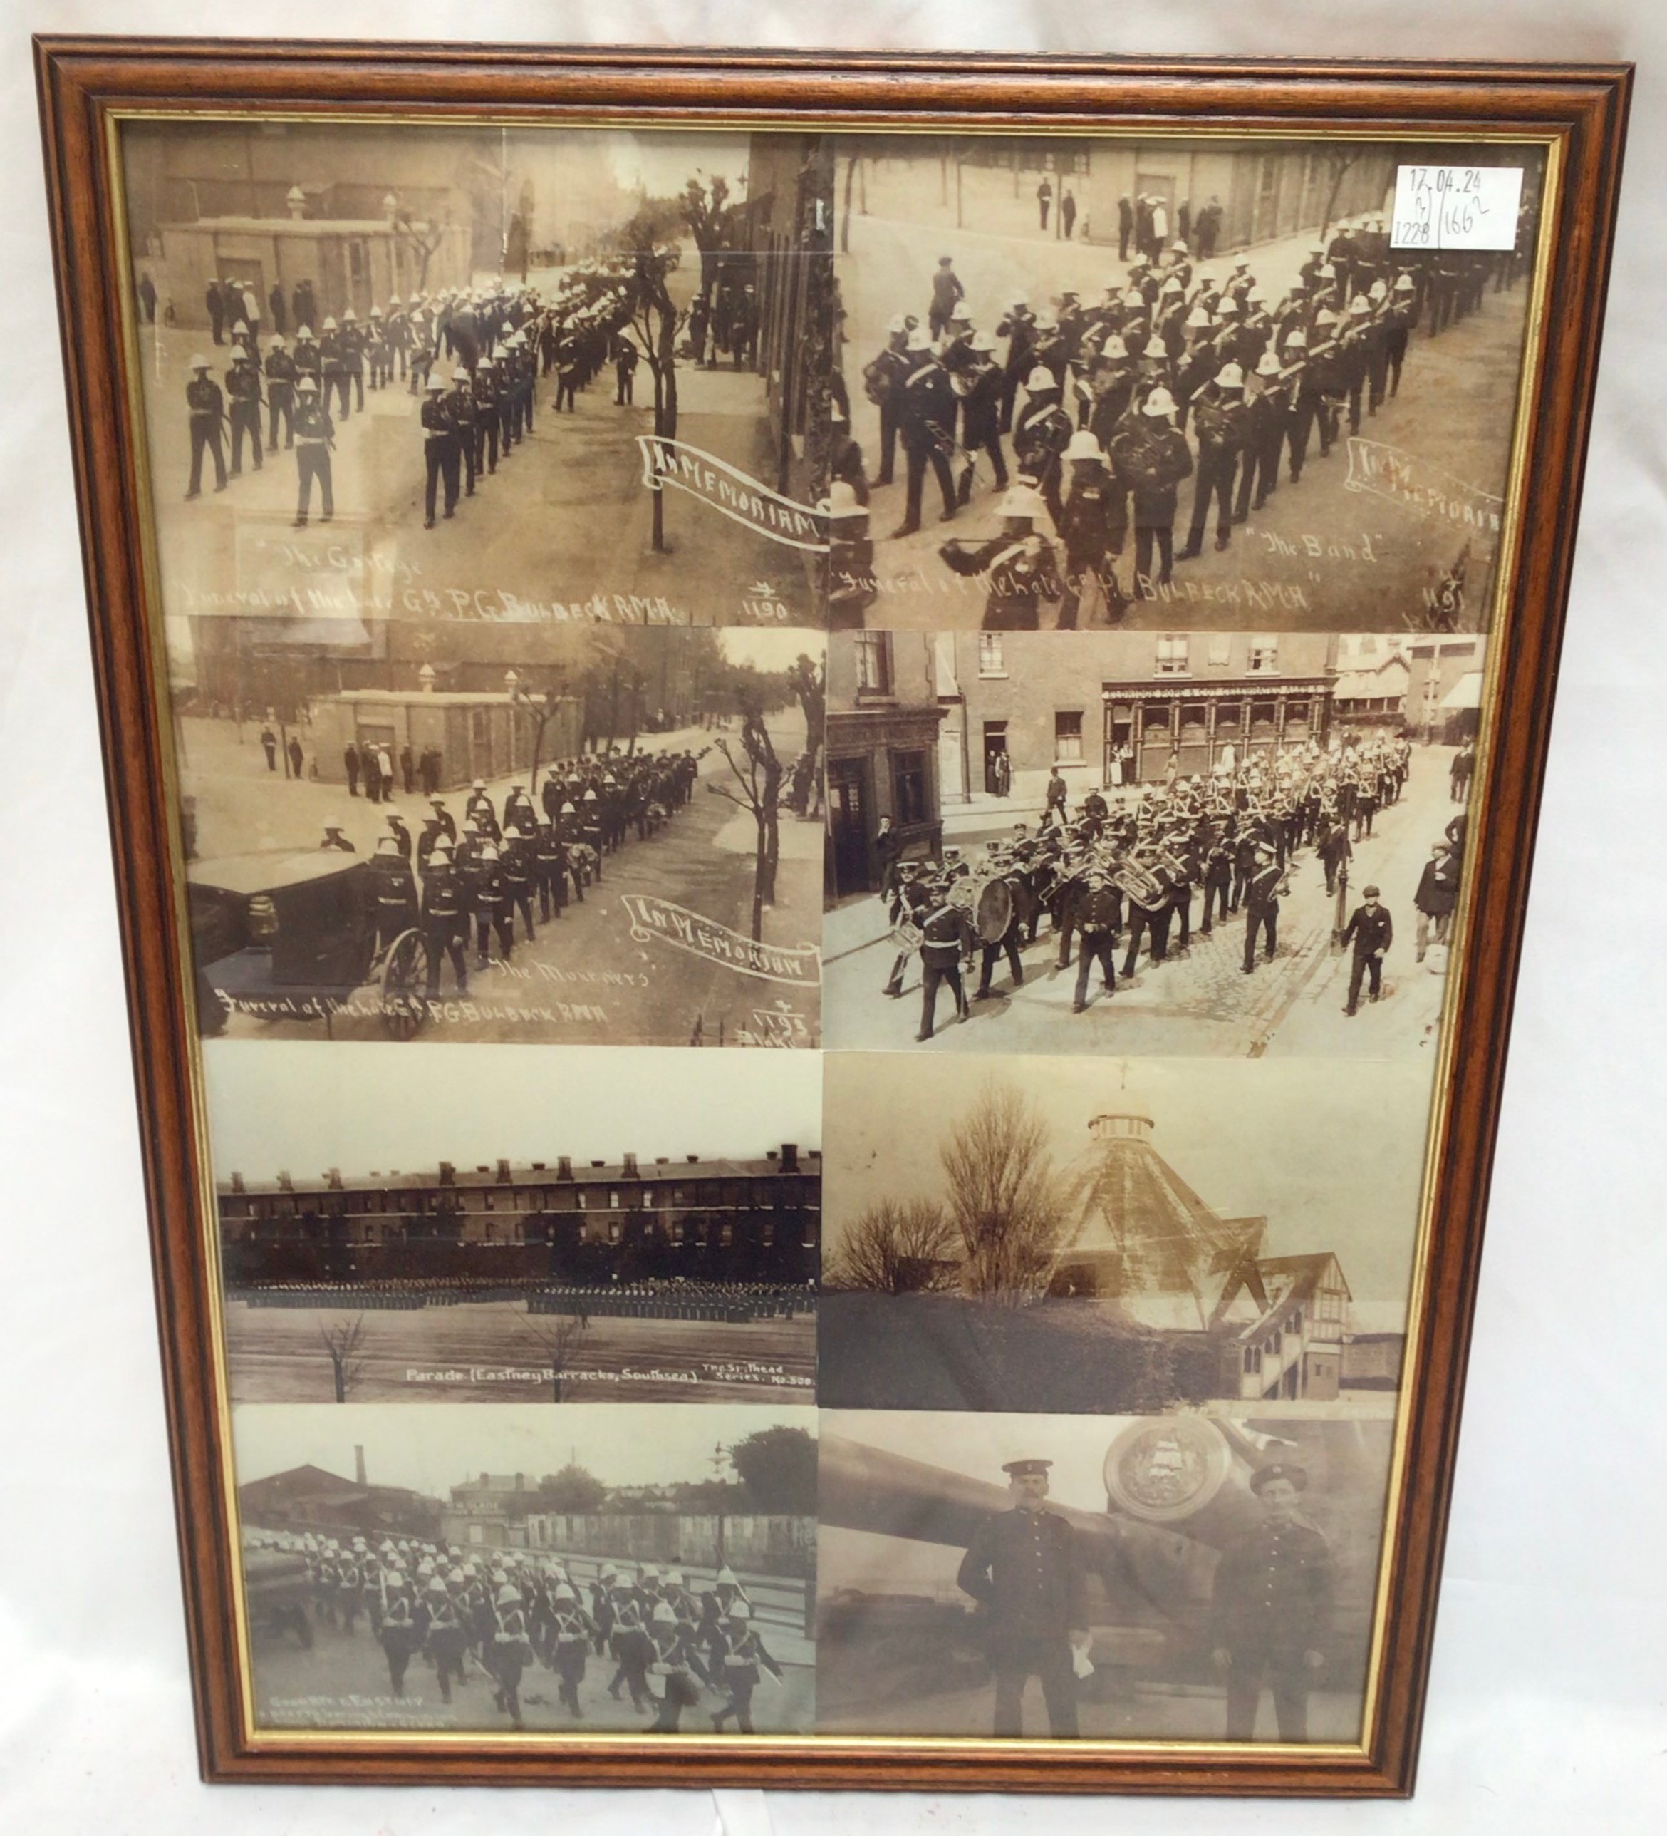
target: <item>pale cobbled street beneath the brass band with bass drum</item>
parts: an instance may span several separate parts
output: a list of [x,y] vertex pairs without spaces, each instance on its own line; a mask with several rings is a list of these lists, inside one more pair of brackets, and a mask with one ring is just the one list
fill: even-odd
[[[885,905],[854,900],[824,920],[824,1012],[830,1048],[920,1052],[1135,1052],[1173,1056],[1259,1058],[1302,1054],[1335,1058],[1408,1058],[1430,1054],[1438,1041],[1445,999],[1445,953],[1414,960],[1412,894],[1430,843],[1452,819],[1449,747],[1415,747],[1401,802],[1379,812],[1373,834],[1355,845],[1351,898],[1368,881],[1382,887],[1395,922],[1395,944],[1384,966],[1382,1001],[1342,1013],[1349,960],[1331,949],[1335,901],[1313,848],[1303,848],[1291,872],[1291,896],[1280,909],[1280,947],[1270,964],[1243,973],[1243,912],[1217,924],[1212,936],[1193,929],[1186,953],[1153,966],[1140,957],[1133,977],[1118,973],[1116,993],[1091,986],[1085,1013],[1070,1012],[1076,971],[1056,966],[1057,942],[1046,920],[1024,953],[1024,984],[1012,988],[1006,960],[997,966],[991,997],[973,1002],[973,1017],[953,1024],[945,991],[938,995],[938,1034],[914,1043],[920,1026],[920,962],[912,962],[901,1001],[881,990],[892,951]],[[1012,815],[991,826],[1006,834]],[[986,837],[964,834],[958,845],[971,856]],[[1193,898],[1197,922],[1201,900]],[[1122,949],[1118,947],[1118,971]],[[977,986],[977,968],[968,984]]]

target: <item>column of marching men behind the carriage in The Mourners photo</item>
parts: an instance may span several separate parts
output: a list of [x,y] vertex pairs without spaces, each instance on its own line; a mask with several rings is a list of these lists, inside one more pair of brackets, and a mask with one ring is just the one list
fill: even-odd
[[[349,749],[351,789],[365,773],[365,793],[393,795],[393,764],[386,749],[369,758],[375,778],[356,749]],[[409,780],[417,760],[408,769]],[[428,755],[422,762],[428,766]],[[635,834],[648,841],[687,808],[699,777],[699,755],[606,753],[556,760],[534,804],[525,784],[510,784],[499,812],[483,778],[470,788],[463,826],[439,791],[428,797],[428,815],[413,837],[404,817],[386,815],[387,834],[371,854],[376,949],[386,951],[404,931],[422,933],[430,1001],[439,999],[450,962],[457,993],[468,991],[468,944],[474,968],[514,957],[516,927],[532,942],[540,924],[551,924],[569,900],[584,903],[584,889],[602,879],[608,856]],[[375,800],[375,799],[373,799]],[[340,824],[329,824],[321,848],[356,852]],[[536,907],[536,918],[534,918]],[[494,951],[496,946],[496,951]]]

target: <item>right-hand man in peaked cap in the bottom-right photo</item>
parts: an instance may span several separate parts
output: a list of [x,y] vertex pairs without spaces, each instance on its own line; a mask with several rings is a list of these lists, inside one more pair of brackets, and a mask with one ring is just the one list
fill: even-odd
[[1261,1522],[1221,1551],[1210,1597],[1210,1651],[1226,1678],[1226,1737],[1256,1739],[1267,1680],[1281,1741],[1309,1737],[1309,1687],[1326,1663],[1333,1568],[1326,1537],[1298,1500],[1307,1472],[1276,1460],[1250,1474]]

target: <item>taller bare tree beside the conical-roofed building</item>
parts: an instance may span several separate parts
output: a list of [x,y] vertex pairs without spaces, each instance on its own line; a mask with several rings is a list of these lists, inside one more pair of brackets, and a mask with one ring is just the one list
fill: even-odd
[[1010,1083],[990,1083],[940,1149],[962,1287],[1023,1305],[1048,1282],[1065,1208],[1046,1124]]

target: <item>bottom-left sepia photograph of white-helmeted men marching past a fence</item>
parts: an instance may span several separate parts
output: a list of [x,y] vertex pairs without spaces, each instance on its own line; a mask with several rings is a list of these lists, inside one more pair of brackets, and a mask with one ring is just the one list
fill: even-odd
[[815,1419],[241,1408],[257,1728],[793,1733]]

